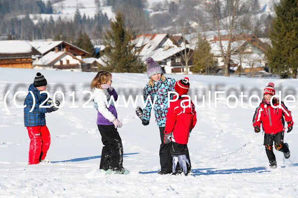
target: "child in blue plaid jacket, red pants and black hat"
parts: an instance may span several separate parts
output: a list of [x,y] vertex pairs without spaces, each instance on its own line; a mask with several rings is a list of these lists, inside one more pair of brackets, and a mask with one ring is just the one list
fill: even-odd
[[[50,162],[45,159],[51,144],[51,136],[46,126],[45,113],[56,111],[58,108],[52,104],[52,100],[44,102],[48,98],[48,95],[40,92],[46,91],[46,89],[47,80],[38,72],[34,78],[34,82],[29,86],[29,93],[24,102],[24,105],[26,105],[24,107],[24,124],[30,138],[28,164]],[[41,104],[50,107],[41,107]],[[59,106],[59,104],[60,102],[56,100],[56,106]],[[31,111],[33,105],[35,106]]]

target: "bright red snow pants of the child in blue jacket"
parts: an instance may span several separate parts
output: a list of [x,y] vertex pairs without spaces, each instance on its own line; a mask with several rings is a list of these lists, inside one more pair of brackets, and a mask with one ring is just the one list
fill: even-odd
[[47,126],[27,127],[30,147],[28,164],[38,164],[45,159],[51,143],[51,135]]

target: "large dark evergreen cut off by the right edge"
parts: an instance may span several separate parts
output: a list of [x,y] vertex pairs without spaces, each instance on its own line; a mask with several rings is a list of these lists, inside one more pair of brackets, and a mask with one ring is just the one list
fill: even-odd
[[298,68],[298,0],[281,0],[275,6],[267,51],[269,67],[284,77],[297,78]]

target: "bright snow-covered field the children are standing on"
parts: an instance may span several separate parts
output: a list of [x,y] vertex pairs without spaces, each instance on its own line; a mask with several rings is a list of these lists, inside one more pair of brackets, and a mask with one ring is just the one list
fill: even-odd
[[[51,133],[47,159],[50,164],[27,165],[29,137],[23,122],[21,106],[25,91],[36,72],[48,81],[50,97],[64,106],[46,114]],[[118,118],[124,147],[124,162],[129,175],[105,175],[99,172],[101,137],[96,126],[96,110],[83,108],[90,91],[89,84],[96,73],[0,68],[0,198],[297,198],[298,197],[298,107],[289,108],[294,129],[285,134],[291,157],[274,150],[277,169],[270,169],[263,146],[262,132],[252,127],[254,107],[248,99],[262,96],[263,88],[272,81],[282,98],[293,94],[297,98],[297,79],[261,79],[244,77],[188,75],[191,95],[206,95],[205,107],[197,108],[197,125],[191,133],[188,147],[192,176],[158,175],[159,131],[154,116],[149,126],[143,126],[130,102],[125,107],[123,95],[141,95],[148,82],[147,74],[114,73],[112,86],[120,95]],[[176,80],[185,75],[166,75]],[[209,106],[209,91],[211,103]],[[217,101],[215,91],[224,100]],[[247,95],[242,106],[240,92]],[[70,95],[71,94],[71,95]],[[238,97],[236,105],[229,94]],[[5,97],[6,96],[6,97]],[[4,98],[6,103],[4,103]],[[74,100],[73,100],[74,99]],[[86,104],[85,104],[86,103]],[[142,105],[139,99],[136,105]],[[198,105],[201,105],[198,102]],[[229,108],[228,105],[235,108]],[[257,102],[252,102],[257,105]],[[288,106],[294,106],[295,103]],[[70,107],[71,106],[71,107]],[[75,108],[74,106],[77,106]],[[84,107],[85,107],[84,106]],[[244,108],[247,107],[247,108]],[[8,109],[8,111],[7,111]]]

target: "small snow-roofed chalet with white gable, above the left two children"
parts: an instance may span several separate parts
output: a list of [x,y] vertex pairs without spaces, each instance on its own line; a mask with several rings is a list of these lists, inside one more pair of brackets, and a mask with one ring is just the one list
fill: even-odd
[[82,71],[85,65],[81,59],[75,57],[73,54],[63,51],[51,51],[45,56],[33,62],[35,69],[63,69],[71,71]]

